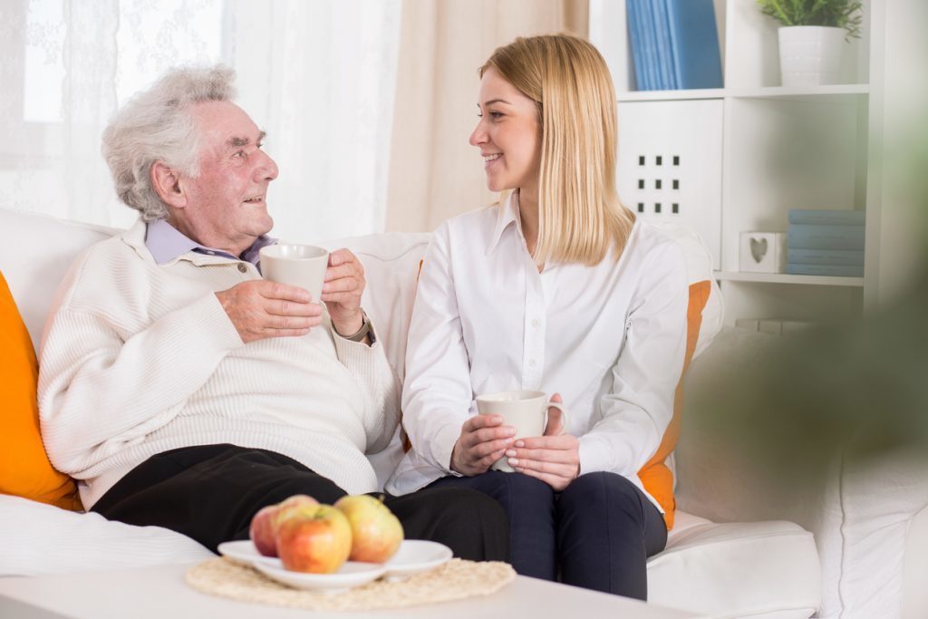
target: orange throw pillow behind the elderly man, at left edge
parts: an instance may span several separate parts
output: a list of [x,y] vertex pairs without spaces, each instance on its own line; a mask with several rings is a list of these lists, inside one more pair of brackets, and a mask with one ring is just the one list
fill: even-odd
[[29,331],[0,273],[0,493],[80,510],[74,480],[55,471],[39,434],[38,364]]

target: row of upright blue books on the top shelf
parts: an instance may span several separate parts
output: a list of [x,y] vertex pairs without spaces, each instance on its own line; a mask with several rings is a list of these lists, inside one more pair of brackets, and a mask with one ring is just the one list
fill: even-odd
[[638,90],[721,88],[713,0],[625,0]]

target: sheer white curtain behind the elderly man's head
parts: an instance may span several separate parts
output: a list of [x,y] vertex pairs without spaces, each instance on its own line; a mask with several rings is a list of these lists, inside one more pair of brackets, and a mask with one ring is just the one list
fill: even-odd
[[0,206],[128,226],[110,114],[166,69],[225,62],[268,133],[274,234],[383,229],[401,0],[0,0]]

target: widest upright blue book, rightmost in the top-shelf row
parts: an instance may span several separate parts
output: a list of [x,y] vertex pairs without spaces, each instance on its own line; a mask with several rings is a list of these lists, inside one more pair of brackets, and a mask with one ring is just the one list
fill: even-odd
[[721,88],[713,0],[664,0],[678,88]]

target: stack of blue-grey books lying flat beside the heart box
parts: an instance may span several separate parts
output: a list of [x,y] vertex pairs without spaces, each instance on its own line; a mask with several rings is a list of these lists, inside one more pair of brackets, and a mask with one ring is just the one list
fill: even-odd
[[864,217],[862,211],[790,211],[786,272],[863,277]]

